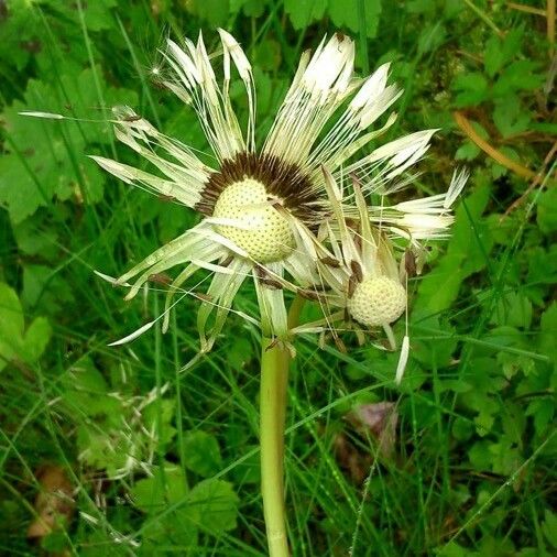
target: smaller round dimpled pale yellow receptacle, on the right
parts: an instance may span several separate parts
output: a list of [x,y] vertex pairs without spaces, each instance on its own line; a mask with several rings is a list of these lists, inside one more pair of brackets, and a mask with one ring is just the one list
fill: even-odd
[[379,276],[364,278],[348,303],[350,315],[368,327],[389,325],[406,309],[406,291],[397,281]]

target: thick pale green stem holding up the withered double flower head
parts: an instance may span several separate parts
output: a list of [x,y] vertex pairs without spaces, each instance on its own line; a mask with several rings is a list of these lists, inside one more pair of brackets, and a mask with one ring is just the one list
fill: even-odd
[[284,507],[284,424],[290,353],[282,342],[261,340],[261,493],[270,557],[288,557]]

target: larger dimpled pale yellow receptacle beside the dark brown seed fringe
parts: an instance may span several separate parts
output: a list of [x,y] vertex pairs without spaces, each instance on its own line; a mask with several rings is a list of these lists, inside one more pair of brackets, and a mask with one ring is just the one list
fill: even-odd
[[247,228],[219,225],[217,230],[260,263],[278,261],[294,249],[288,221],[273,207],[251,207],[267,200],[265,186],[245,178],[228,186],[215,204],[212,216],[238,220]]

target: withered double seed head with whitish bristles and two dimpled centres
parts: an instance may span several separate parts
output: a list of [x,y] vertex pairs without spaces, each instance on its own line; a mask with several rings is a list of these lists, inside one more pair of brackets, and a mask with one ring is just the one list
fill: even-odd
[[[201,34],[197,43],[168,40],[161,53],[166,69],[159,74],[160,85],[197,113],[214,163],[129,107],[113,110],[116,135],[151,168],[92,156],[125,183],[201,215],[198,225],[111,282],[130,286],[129,299],[152,276],[179,267],[166,294],[163,330],[175,297],[195,293],[203,351],[221,332],[250,275],[265,336],[286,342],[291,338],[284,298],[290,291],[320,304],[323,320],[312,330],[335,336],[337,324],[348,317],[359,328],[383,328],[393,345],[391,325],[407,305],[397,245],[419,250],[424,241],[447,237],[450,205],[466,175],[456,175],[446,194],[389,204],[390,194],[413,183],[409,168],[427,152],[435,130],[403,136],[358,157],[394,123],[396,116],[391,114],[376,125],[402,91],[387,85],[389,64],[357,77],[354,44],[340,34],[324,39],[314,54],[302,55],[269,134],[256,142],[251,64],[232,35],[218,32],[221,77]],[[245,90],[244,127],[230,100],[233,79]],[[200,270],[212,273],[203,293],[194,278]],[[156,320],[117,343],[133,340]]]

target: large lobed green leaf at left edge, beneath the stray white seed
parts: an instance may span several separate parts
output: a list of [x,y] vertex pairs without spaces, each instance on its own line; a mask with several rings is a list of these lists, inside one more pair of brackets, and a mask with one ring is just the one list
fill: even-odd
[[[101,98],[91,86],[96,79]],[[24,102],[15,101],[2,114],[9,140],[8,153],[0,157],[0,203],[6,204],[14,223],[48,205],[54,197],[66,200],[75,196],[79,203],[84,197],[88,203],[100,200],[105,175],[86,157],[86,145],[109,144],[113,133],[108,122],[79,127],[75,122],[24,117],[20,112],[67,113],[69,110],[76,117],[90,118],[92,107],[99,103],[110,107],[122,101],[136,102],[135,94],[106,87],[97,67],[62,75],[59,88],[32,79]],[[62,98],[69,99],[69,108]]]

